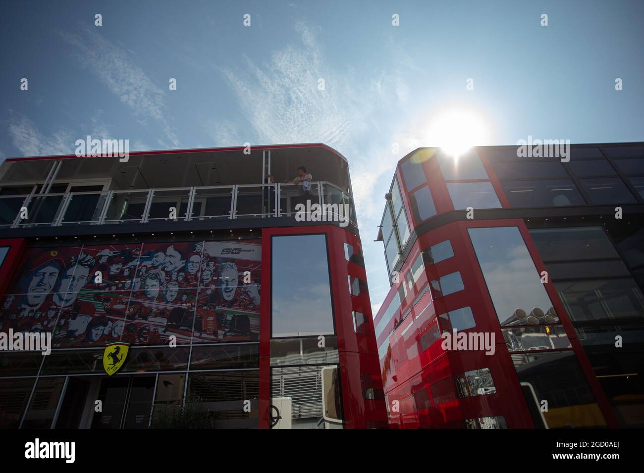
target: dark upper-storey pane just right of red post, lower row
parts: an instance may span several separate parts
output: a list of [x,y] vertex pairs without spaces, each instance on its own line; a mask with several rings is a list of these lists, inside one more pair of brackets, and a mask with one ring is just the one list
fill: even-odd
[[512,207],[586,205],[573,181],[517,181],[501,185]]

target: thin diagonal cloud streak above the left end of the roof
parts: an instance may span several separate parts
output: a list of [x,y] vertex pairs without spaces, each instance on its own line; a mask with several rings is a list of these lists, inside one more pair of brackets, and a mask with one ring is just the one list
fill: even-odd
[[137,65],[129,51],[86,25],[81,26],[81,32],[82,35],[60,33],[77,49],[79,64],[95,74],[140,123],[147,124],[148,119],[160,123],[164,133],[158,143],[162,147],[179,147],[180,140],[164,115],[164,91]]

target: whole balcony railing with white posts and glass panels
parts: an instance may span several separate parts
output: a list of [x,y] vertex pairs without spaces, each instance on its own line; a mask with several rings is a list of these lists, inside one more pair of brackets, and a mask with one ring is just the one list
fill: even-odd
[[330,214],[325,221],[346,218],[348,212],[355,225],[348,192],[314,181],[309,192],[299,185],[276,183],[0,196],[0,228],[295,217],[298,203],[307,212],[316,203],[321,209],[327,205]]

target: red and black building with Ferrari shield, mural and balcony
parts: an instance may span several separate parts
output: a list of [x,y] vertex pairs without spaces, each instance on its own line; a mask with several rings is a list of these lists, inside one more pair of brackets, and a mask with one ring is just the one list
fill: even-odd
[[[310,190],[282,183],[300,166]],[[296,218],[307,201],[349,212]],[[199,427],[386,426],[355,221],[323,144],[6,160],[0,331],[52,353],[0,351],[0,427],[194,427],[181,406]]]

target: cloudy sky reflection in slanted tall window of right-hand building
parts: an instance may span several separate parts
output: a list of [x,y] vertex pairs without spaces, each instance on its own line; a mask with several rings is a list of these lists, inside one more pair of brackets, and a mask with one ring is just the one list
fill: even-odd
[[513,320],[517,308],[527,315],[535,307],[549,310],[552,302],[517,227],[468,228],[468,232],[502,325],[517,324]]

